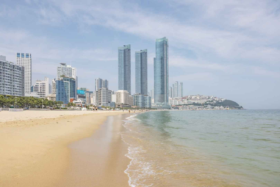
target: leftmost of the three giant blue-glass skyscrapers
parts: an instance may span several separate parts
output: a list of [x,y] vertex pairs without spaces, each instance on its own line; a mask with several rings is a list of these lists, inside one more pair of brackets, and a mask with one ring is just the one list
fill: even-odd
[[130,44],[118,47],[118,83],[119,90],[127,90],[131,95]]

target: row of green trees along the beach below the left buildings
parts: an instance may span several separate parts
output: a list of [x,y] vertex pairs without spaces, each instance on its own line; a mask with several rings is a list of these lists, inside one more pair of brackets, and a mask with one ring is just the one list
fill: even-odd
[[48,108],[50,106],[59,108],[63,104],[62,101],[51,101],[45,98],[34,98],[34,97],[16,97],[11,95],[0,95],[0,107],[6,106],[7,108]]

